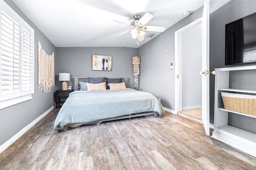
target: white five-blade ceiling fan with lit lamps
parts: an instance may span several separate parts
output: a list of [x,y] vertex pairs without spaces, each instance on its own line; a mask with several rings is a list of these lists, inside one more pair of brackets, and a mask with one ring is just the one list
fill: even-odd
[[[132,21],[132,23],[130,25],[126,24],[126,25],[130,26],[132,29],[128,30],[126,32],[122,32],[121,34],[131,32],[132,38],[136,39],[137,43],[139,44],[139,42],[144,40],[144,36],[146,34],[146,32],[144,32],[144,31],[164,32],[165,27],[145,26],[145,24],[147,24],[153,17],[154,17],[154,15],[149,12],[147,12],[143,16],[141,16],[139,14],[134,15],[133,16],[134,21]],[[113,20],[113,21],[115,21],[115,20]],[[119,22],[119,21],[115,21],[115,22]],[[122,22],[120,22],[120,23],[122,23]],[[122,24],[125,24],[125,23],[122,23]],[[118,34],[116,36],[119,36],[121,34]]]

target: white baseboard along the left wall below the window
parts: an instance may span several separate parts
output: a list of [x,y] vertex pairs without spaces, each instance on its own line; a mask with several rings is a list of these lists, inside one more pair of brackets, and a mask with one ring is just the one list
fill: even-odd
[[45,117],[50,111],[54,109],[54,106],[48,109],[46,112],[44,112],[42,115],[40,115],[38,118],[36,118],[33,122],[28,124],[26,127],[24,127],[22,130],[20,130],[18,133],[16,133],[12,138],[4,142],[0,146],[0,153],[2,153],[4,150],[6,150],[11,144],[13,144],[18,138],[20,138],[24,133],[26,133],[30,128],[32,128],[36,123],[38,123],[43,117]]

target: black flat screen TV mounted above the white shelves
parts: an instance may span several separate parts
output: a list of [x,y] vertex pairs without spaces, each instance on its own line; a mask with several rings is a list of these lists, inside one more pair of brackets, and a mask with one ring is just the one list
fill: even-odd
[[256,13],[226,24],[225,65],[256,63]]

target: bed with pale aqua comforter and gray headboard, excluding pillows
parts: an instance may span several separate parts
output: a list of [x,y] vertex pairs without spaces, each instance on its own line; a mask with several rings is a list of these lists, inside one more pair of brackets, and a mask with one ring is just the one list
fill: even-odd
[[[122,82],[126,80],[122,78]],[[88,77],[75,77],[75,91],[62,105],[54,122],[55,131],[132,117],[156,117],[157,113],[164,115],[161,103],[151,93],[134,89],[78,91],[79,83],[86,81]]]

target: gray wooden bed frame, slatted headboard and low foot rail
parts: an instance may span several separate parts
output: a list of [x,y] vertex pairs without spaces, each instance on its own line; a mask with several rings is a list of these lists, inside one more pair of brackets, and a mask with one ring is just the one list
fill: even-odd
[[[115,78],[115,77],[107,77],[107,78]],[[88,77],[74,77],[74,89],[75,91],[77,90],[77,87],[79,85],[78,81],[88,81]],[[127,78],[122,78],[122,82],[127,82]],[[113,117],[113,118],[108,118],[108,119],[101,119],[98,121],[93,121],[93,122],[89,122],[89,123],[74,123],[74,124],[69,124],[63,127],[63,130],[67,130],[68,127],[79,127],[81,125],[88,125],[88,124],[92,124],[92,123],[102,123],[102,122],[106,122],[106,121],[114,121],[114,120],[119,120],[119,119],[130,119],[132,117],[142,117],[142,116],[149,116],[149,115],[153,115],[154,117],[157,117],[157,113],[156,112],[148,112],[148,113],[134,113],[131,115],[126,115],[126,116],[120,116],[120,117]]]

